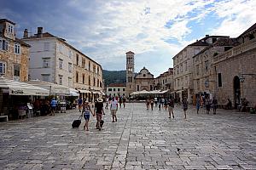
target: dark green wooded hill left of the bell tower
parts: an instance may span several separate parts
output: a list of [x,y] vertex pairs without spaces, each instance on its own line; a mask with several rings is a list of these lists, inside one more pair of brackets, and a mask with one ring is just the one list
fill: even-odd
[[126,71],[106,71],[103,70],[103,79],[105,85],[111,83],[125,83],[126,82]]

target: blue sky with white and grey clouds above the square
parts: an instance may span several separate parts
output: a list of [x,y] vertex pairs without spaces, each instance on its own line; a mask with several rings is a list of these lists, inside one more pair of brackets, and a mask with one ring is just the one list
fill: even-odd
[[256,22],[256,0],[0,0],[0,18],[62,37],[105,70],[125,70],[133,51],[135,70],[157,77],[172,57],[205,35],[238,37]]

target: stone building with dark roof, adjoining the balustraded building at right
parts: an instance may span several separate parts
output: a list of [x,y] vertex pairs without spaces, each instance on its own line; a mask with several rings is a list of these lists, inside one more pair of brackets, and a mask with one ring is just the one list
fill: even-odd
[[193,57],[193,85],[194,99],[208,95],[211,99],[215,96],[216,75],[212,65],[213,56],[222,54],[238,44],[236,38],[223,37],[204,48]]

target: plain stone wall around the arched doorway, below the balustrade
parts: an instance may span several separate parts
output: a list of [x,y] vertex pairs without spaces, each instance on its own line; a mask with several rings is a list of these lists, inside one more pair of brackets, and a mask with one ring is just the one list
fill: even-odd
[[[233,49],[231,49],[230,51],[232,52],[232,50]],[[237,51],[237,48],[235,48],[234,50]],[[216,66],[217,75],[218,73],[221,73],[222,75],[222,87],[217,87],[216,89],[217,98],[219,101],[218,103],[225,103],[226,99],[231,99],[232,104],[234,105],[234,78],[236,76],[241,77],[241,74],[256,74],[256,47],[247,50],[246,52],[241,51],[241,53],[236,54],[236,56],[232,56],[223,60],[220,59],[214,65]],[[255,105],[256,75],[245,75],[244,77],[245,81],[240,82],[241,98],[246,98],[250,102],[249,105]]]

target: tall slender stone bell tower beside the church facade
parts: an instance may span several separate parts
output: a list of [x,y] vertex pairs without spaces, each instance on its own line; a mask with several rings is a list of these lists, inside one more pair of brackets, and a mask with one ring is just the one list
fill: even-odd
[[126,96],[134,92],[134,53],[126,53]]

